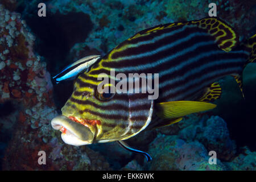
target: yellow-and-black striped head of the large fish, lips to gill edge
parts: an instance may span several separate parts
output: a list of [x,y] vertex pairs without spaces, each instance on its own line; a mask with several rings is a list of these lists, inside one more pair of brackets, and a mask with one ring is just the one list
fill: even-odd
[[[133,137],[151,121],[152,103],[144,96],[111,93],[112,84],[99,85],[102,81],[80,75],[73,93],[62,107],[62,115],[53,118],[53,129],[62,132],[67,144],[112,142]],[[109,92],[105,92],[109,90]],[[137,98],[138,97],[138,98]]]

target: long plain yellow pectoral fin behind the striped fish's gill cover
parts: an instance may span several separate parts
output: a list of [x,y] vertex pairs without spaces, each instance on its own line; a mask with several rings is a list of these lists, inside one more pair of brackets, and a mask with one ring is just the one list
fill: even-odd
[[206,111],[215,104],[199,101],[171,101],[156,104],[156,115],[160,118],[180,118],[184,115]]

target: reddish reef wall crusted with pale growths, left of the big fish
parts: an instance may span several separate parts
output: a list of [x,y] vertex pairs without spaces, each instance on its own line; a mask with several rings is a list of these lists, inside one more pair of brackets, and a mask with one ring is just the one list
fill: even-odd
[[[20,14],[0,5],[1,75],[0,102],[19,109],[3,113],[1,131],[11,136],[5,148],[4,170],[100,170],[110,169],[98,152],[88,147],[63,144],[49,125],[57,115],[52,99],[52,83],[46,64],[33,50],[35,37]],[[11,134],[10,134],[11,133]],[[46,165],[38,164],[38,152],[45,151]]]

